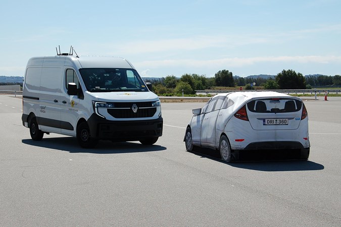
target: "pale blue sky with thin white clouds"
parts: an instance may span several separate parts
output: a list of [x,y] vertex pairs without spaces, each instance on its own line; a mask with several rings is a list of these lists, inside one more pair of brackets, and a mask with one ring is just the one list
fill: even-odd
[[341,75],[341,1],[16,1],[0,8],[0,75],[56,47],[122,56],[142,77]]

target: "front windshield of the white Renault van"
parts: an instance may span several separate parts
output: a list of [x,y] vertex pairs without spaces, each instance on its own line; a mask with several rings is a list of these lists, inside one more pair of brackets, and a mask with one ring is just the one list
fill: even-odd
[[149,91],[133,69],[84,68],[79,73],[90,92]]

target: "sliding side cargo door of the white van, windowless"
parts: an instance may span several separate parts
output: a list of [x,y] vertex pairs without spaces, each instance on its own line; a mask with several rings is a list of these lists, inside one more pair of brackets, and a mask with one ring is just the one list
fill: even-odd
[[42,131],[60,133],[60,95],[62,69],[44,67],[41,70],[39,91],[39,125]]

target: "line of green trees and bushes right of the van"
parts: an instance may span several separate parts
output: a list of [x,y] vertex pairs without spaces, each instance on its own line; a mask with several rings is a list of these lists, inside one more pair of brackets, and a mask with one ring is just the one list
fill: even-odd
[[153,90],[158,95],[191,95],[196,90],[206,89],[237,89],[242,87],[244,90],[253,89],[251,84],[256,83],[258,88],[266,90],[276,89],[311,89],[312,86],[341,85],[341,76],[303,76],[294,70],[282,70],[274,78],[244,78],[233,77],[232,72],[221,70],[214,77],[207,78],[205,75],[184,74],[180,78],[173,75],[161,79],[149,79],[146,82],[153,84]]

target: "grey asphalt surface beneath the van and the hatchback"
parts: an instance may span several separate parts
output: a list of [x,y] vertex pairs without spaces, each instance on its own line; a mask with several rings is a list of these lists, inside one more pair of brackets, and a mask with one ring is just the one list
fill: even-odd
[[162,103],[153,146],[57,134],[32,141],[22,101],[0,95],[0,226],[341,226],[341,98],[303,99],[308,161],[224,163],[185,151],[192,108]]

